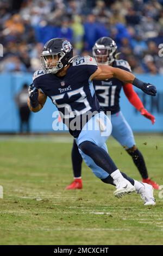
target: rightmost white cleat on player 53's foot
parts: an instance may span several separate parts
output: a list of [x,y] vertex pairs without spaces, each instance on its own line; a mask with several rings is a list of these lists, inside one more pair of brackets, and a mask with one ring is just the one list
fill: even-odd
[[155,205],[155,199],[153,196],[153,187],[147,183],[141,182],[144,187],[145,191],[140,194],[141,199],[144,202],[144,205]]

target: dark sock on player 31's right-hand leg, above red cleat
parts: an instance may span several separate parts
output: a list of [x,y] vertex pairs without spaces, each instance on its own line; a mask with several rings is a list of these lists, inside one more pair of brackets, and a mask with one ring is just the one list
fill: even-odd
[[148,171],[147,171],[145,160],[143,159],[143,156],[142,156],[141,152],[138,149],[136,149],[135,151],[127,150],[127,152],[132,157],[132,159],[133,159],[137,169],[139,170],[140,175],[142,176],[142,178],[147,179],[148,178]]

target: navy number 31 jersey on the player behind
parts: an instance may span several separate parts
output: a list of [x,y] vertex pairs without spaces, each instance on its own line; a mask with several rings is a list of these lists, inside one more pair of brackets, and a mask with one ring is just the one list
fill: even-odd
[[[112,66],[131,72],[128,62],[123,59],[115,60]],[[111,114],[115,114],[120,111],[120,93],[123,82],[117,78],[104,81],[93,80],[93,86],[95,87],[99,104],[105,112],[111,111]]]

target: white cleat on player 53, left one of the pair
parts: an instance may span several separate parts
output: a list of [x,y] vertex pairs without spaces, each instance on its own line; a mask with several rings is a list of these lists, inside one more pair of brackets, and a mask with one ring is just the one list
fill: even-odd
[[116,183],[116,191],[114,192],[114,196],[121,198],[125,194],[133,193],[135,192],[135,187],[124,178],[118,179]]

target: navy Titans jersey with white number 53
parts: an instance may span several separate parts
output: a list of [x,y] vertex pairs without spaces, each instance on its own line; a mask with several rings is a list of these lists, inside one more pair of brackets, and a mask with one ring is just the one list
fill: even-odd
[[[57,106],[61,112],[62,121],[75,138],[78,137],[85,124],[82,123],[83,115],[86,115],[88,111],[100,111],[93,83],[89,80],[96,70],[96,60],[85,56],[75,58],[65,76],[43,74],[42,70],[38,70],[33,77],[34,86]],[[80,123],[80,127],[78,124],[77,129],[71,128],[70,123],[73,119]]]

